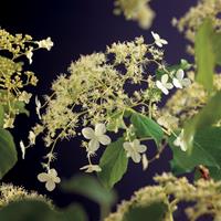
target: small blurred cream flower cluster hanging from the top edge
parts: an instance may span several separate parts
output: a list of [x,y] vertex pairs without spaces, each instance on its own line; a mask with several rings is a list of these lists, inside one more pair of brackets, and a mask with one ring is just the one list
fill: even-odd
[[150,0],[115,0],[115,14],[124,13],[127,20],[138,21],[143,29],[150,28],[155,12],[149,7]]

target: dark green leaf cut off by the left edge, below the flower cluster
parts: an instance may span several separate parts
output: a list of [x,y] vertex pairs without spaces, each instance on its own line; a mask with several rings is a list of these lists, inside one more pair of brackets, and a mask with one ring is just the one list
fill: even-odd
[[17,149],[10,131],[0,128],[0,179],[15,165]]

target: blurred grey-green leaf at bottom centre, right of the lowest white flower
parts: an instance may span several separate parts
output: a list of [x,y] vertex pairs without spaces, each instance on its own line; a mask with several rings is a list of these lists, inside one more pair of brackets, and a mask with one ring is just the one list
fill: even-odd
[[75,192],[99,203],[112,206],[116,200],[114,191],[105,189],[95,177],[75,176],[70,180],[62,182],[62,189],[67,192]]

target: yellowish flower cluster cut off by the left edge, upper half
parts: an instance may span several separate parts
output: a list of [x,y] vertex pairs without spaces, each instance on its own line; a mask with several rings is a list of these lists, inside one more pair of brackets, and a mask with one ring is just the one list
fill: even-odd
[[38,42],[30,35],[12,35],[0,29],[0,109],[4,114],[3,128],[13,127],[15,115],[28,114],[24,106],[30,102],[32,94],[24,91],[24,87],[35,86],[38,83],[33,72],[23,71],[22,57],[27,57],[31,64],[33,51],[50,50],[52,45],[50,38]]

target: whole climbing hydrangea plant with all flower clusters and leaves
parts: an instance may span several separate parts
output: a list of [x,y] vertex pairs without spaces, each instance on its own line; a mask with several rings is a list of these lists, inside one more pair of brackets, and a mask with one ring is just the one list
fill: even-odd
[[[115,13],[137,20],[141,28],[149,28],[155,17],[148,0],[116,0],[115,7]],[[220,220],[220,0],[199,0],[183,18],[172,19],[190,42],[192,64],[181,57],[178,64],[167,64],[164,50],[169,40],[151,31],[150,43],[139,36],[113,43],[105,52],[82,55],[66,74],[56,77],[50,95],[35,96],[39,122],[29,131],[28,144],[20,141],[20,148],[24,158],[27,148],[43,138],[48,152],[36,179],[46,190],[53,191],[61,182],[63,191],[80,192],[97,202],[101,220],[106,221],[172,221],[180,202],[189,202],[185,213],[191,221],[203,215]],[[38,82],[33,72],[23,71],[22,61],[31,64],[35,50],[50,51],[52,46],[51,38],[34,41],[0,29],[0,178],[17,162],[9,129],[17,115],[29,115],[25,104],[32,94],[25,87]],[[88,161],[80,170],[96,172],[98,179],[87,175],[69,181],[60,178],[53,164],[56,144],[76,137]],[[149,143],[156,147],[152,157],[147,154]],[[155,176],[158,185],[135,192],[107,215],[116,200],[112,189],[126,173],[128,161],[141,164],[148,171],[166,148],[172,151],[171,173]],[[187,172],[194,176],[193,182],[176,177]],[[78,206],[57,212],[46,198],[12,185],[1,185],[0,194],[0,219],[12,220],[10,215],[28,203],[30,214],[36,214],[38,208],[45,211],[38,213],[41,220],[44,214],[53,221],[69,221],[70,214],[86,220]]]

